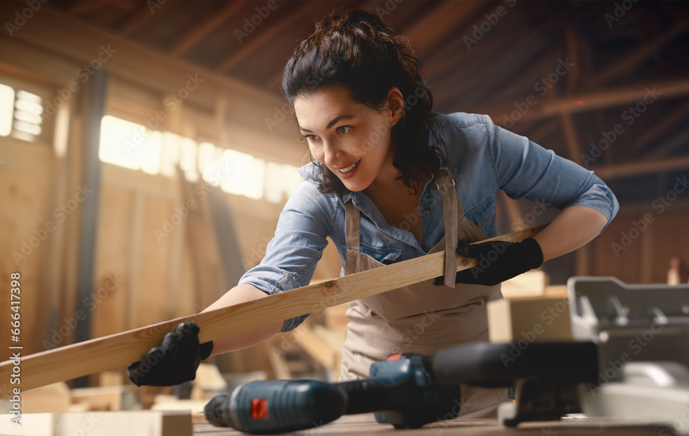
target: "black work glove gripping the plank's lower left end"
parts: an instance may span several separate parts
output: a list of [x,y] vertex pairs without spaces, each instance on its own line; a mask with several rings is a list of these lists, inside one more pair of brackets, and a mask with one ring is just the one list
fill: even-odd
[[213,351],[212,341],[198,343],[198,331],[193,322],[182,322],[141,360],[130,363],[127,377],[136,386],[174,386],[194,380],[198,364]]

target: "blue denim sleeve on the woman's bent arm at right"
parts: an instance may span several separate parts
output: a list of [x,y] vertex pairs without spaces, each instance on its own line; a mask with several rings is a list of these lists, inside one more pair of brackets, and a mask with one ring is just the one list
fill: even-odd
[[510,198],[526,198],[560,210],[590,207],[604,214],[608,224],[613,220],[619,210],[617,198],[592,171],[493,125],[489,118],[491,132],[489,148],[497,185]]

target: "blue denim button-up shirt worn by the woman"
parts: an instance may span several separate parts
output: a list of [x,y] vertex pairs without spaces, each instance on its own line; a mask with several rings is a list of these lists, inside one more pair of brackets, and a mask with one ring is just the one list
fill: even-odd
[[[489,238],[496,236],[498,189],[510,198],[527,198],[557,209],[591,207],[601,211],[608,222],[617,214],[619,205],[613,192],[584,167],[494,125],[489,116],[434,115],[464,215]],[[433,139],[431,145],[438,146]],[[426,180],[419,200],[422,240],[418,241],[411,232],[389,225],[363,192],[320,194],[320,170],[313,163],[299,172],[305,181],[280,213],[265,258],[247,271],[240,283],[253,284],[271,294],[306,286],[328,237],[344,264],[345,202],[350,198],[362,213],[360,251],[383,264],[424,256],[444,236],[442,200],[432,176]],[[286,320],[281,331],[294,329],[307,316]]]

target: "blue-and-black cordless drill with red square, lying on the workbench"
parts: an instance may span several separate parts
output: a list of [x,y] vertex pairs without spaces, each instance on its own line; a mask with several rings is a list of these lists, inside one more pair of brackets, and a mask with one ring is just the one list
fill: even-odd
[[459,413],[459,384],[434,383],[430,357],[391,355],[372,364],[369,377],[341,383],[249,382],[214,397],[204,413],[215,426],[254,434],[304,430],[370,412],[378,422],[415,428]]

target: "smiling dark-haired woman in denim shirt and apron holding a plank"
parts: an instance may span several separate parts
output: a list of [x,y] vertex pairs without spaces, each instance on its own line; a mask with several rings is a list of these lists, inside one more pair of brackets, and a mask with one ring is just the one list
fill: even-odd
[[[445,286],[420,283],[351,302],[342,380],[367,377],[371,363],[389,353],[431,354],[486,340],[486,302],[502,298],[500,282],[581,247],[617,213],[615,196],[592,172],[487,116],[431,112],[409,41],[367,12],[318,23],[287,63],[282,88],[313,163],[300,169],[306,180],[280,214],[263,261],[206,310],[309,284],[327,237],[345,274],[445,247],[455,262],[455,247],[462,256],[495,259],[434,280]],[[535,238],[468,246],[495,236],[497,189],[561,211]],[[191,380],[211,352],[254,345],[306,316],[200,346],[198,327],[181,325],[161,344],[174,352],[150,369],[146,357],[130,365],[130,378]],[[506,389],[463,386],[460,416],[494,417],[505,399]]]

